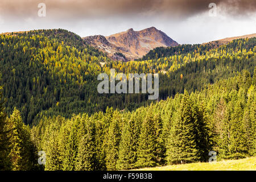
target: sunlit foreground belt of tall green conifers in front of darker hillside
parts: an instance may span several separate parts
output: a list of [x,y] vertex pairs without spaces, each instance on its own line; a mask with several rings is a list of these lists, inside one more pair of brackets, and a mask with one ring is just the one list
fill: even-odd
[[[31,130],[20,113],[0,122],[2,169],[115,170],[256,155],[256,68],[133,112],[43,117]],[[7,166],[7,167],[6,167]]]

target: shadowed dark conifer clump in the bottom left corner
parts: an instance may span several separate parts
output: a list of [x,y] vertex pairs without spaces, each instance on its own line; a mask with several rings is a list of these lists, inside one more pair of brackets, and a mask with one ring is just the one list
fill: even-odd
[[43,169],[38,165],[37,148],[31,128],[24,125],[21,114],[14,109],[6,118],[0,88],[0,171],[26,171]]

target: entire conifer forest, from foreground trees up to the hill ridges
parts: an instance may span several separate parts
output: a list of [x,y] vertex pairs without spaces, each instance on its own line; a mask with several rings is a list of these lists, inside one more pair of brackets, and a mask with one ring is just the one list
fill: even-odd
[[[210,151],[218,160],[255,156],[255,45],[156,48],[122,62],[65,30],[0,35],[0,169],[137,169],[207,162]],[[99,94],[97,76],[111,68],[159,73],[159,99]]]

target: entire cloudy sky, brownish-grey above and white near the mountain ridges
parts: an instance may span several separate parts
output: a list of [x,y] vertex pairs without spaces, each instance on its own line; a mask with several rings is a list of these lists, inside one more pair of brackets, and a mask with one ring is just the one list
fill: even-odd
[[[39,17],[39,3],[46,16]],[[215,3],[209,7],[210,3]],[[210,11],[210,14],[209,14]],[[40,11],[42,13],[43,11]],[[256,33],[255,0],[1,0],[0,33],[64,28],[84,37],[156,27],[180,44]]]

